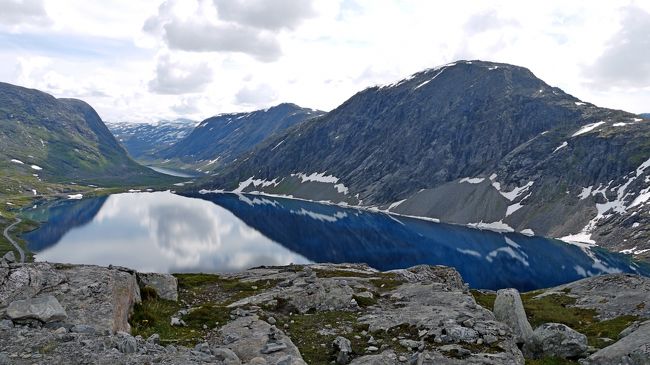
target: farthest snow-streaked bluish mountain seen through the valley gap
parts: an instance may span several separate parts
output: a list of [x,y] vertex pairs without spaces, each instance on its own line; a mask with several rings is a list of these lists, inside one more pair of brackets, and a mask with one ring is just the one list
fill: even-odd
[[196,121],[183,118],[161,120],[156,123],[106,123],[115,138],[135,159],[151,158],[154,152],[185,138],[196,125]]

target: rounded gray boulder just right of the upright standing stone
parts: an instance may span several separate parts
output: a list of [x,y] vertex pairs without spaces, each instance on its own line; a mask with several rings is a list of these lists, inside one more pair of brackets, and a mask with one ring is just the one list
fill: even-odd
[[533,359],[583,357],[587,354],[587,336],[561,323],[544,323],[526,341],[523,353]]

